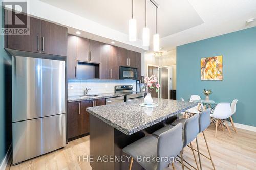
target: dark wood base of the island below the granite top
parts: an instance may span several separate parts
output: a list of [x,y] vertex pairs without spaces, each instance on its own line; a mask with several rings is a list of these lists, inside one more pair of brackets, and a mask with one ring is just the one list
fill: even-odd
[[[177,116],[175,115],[132,135],[126,135],[121,131],[115,129],[114,127],[110,126],[109,124],[103,122],[99,118],[90,114],[90,155],[93,156],[93,161],[90,162],[90,165],[92,169],[129,169],[129,161],[131,159],[128,159],[129,155],[123,153],[122,149],[146,135],[151,135],[151,133],[153,133],[154,131],[162,128],[164,124],[172,123],[176,119]],[[122,160],[125,160],[125,162],[122,162],[121,160],[104,162],[104,160],[110,159],[111,157],[113,159],[121,158],[121,156],[123,155],[128,156],[128,158],[122,157]],[[132,169],[143,170],[144,168],[141,167],[136,161],[134,161]]]

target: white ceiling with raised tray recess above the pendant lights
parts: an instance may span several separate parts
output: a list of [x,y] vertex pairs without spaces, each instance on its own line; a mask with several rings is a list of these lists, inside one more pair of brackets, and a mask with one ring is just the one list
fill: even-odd
[[[128,34],[128,21],[132,15],[131,0],[41,1]],[[160,47],[164,50],[256,26],[256,22],[249,25],[245,22],[249,18],[256,18],[255,0],[156,0],[156,2],[159,4]],[[144,3],[144,0],[134,0],[134,18],[137,20],[140,39],[145,25]],[[147,1],[147,22],[153,35],[155,7],[150,1]]]

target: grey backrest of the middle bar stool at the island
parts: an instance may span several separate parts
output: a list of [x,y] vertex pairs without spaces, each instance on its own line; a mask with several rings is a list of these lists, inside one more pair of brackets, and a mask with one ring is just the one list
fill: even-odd
[[194,116],[188,118],[184,123],[184,140],[183,140],[183,148],[186,147],[191,141],[193,141],[199,132],[199,122],[198,122],[199,114],[195,114]]

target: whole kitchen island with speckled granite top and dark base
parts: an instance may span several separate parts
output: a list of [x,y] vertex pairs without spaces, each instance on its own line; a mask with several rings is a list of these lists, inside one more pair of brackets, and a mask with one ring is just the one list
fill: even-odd
[[[177,119],[177,114],[197,103],[153,98],[159,106],[141,107],[143,99],[124,103],[89,107],[90,113],[90,155],[122,157],[122,149],[127,145],[151,135],[154,131]],[[91,161],[92,169],[129,169],[129,161]],[[143,169],[136,161],[133,169]]]

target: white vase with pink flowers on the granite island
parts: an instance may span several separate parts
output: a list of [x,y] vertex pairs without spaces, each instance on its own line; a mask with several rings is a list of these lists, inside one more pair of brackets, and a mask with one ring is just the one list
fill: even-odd
[[158,92],[160,88],[160,84],[157,83],[157,77],[155,75],[152,75],[151,77],[145,77],[145,84],[147,88],[147,95],[144,98],[144,104],[152,105],[153,99],[151,97],[151,92],[153,90],[156,90],[156,92]]

